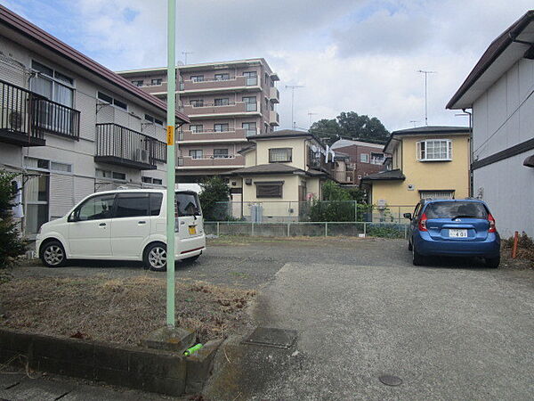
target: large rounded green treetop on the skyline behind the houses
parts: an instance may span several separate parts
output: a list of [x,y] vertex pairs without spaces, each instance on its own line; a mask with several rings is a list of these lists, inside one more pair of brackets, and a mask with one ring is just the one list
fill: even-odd
[[376,117],[369,118],[354,111],[343,111],[336,119],[320,119],[310,132],[325,138],[329,144],[344,137],[371,143],[385,143],[390,133]]

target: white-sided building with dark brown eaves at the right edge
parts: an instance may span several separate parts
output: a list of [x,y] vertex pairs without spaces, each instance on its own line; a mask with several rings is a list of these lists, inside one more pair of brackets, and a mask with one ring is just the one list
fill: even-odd
[[534,10],[497,37],[447,104],[473,109],[472,195],[503,236],[534,236]]

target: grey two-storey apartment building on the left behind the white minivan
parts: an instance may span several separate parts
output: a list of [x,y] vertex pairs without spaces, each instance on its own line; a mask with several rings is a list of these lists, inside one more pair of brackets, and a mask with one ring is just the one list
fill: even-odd
[[166,185],[166,103],[1,5],[0,106],[29,238],[93,192]]

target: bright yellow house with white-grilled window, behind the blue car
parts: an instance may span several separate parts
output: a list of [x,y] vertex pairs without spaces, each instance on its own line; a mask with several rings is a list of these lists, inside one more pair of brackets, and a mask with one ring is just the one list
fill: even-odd
[[384,153],[392,155],[388,169],[362,178],[370,203],[401,216],[421,199],[469,196],[469,133],[468,127],[392,132],[384,145]]

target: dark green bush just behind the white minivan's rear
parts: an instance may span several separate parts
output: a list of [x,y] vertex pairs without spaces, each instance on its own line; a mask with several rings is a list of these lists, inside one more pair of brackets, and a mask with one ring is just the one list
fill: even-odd
[[[225,220],[230,207],[230,187],[220,176],[207,178],[200,184],[202,192],[198,195],[204,220],[217,221]],[[223,203],[227,202],[227,203]]]

